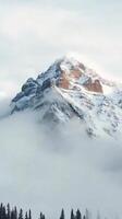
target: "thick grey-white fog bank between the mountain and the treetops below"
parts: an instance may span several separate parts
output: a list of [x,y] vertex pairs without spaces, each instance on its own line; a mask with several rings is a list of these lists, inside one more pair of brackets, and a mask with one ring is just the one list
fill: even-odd
[[121,140],[89,139],[78,120],[50,130],[25,112],[0,120],[0,151],[3,203],[51,218],[62,207],[122,214]]

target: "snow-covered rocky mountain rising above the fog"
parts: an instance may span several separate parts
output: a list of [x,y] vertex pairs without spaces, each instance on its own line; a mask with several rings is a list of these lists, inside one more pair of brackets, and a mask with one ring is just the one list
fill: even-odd
[[122,134],[122,84],[65,56],[23,84],[11,102],[11,111],[24,110],[36,111],[48,124],[76,117],[89,136],[117,136]]

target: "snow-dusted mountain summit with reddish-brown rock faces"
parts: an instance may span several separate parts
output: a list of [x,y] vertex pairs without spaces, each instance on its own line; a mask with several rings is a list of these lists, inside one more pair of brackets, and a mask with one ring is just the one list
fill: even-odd
[[60,88],[73,89],[73,85],[75,87],[77,83],[90,92],[103,92],[98,74],[73,56],[64,56],[54,65],[59,67],[61,72],[59,79]]

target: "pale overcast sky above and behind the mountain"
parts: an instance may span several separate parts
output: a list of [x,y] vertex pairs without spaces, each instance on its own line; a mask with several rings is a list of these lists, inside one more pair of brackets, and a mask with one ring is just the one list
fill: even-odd
[[122,78],[121,12],[121,0],[0,0],[0,93],[13,95],[71,51]]

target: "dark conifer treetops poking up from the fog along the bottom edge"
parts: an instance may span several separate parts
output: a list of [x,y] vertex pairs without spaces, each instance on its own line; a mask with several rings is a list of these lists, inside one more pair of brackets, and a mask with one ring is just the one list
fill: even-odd
[[[70,219],[89,219],[89,212],[86,209],[85,215],[82,215],[81,211],[77,209],[76,212],[71,210]],[[16,207],[11,208],[10,204],[4,206],[3,204],[0,205],[0,219],[33,219],[30,209],[26,212],[23,212],[23,209],[17,210]],[[37,219],[46,219],[42,212],[39,214]],[[64,209],[61,210],[61,215],[59,219],[65,219]]]

